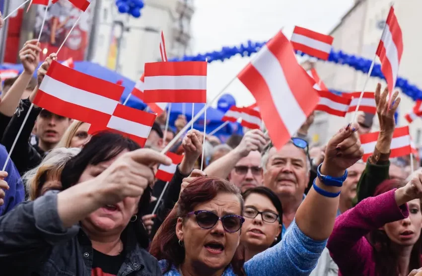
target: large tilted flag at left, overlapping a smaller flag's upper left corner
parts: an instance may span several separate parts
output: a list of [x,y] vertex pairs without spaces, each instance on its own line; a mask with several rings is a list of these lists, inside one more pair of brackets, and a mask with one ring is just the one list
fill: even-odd
[[114,114],[124,89],[53,61],[34,104],[57,115],[101,124]]

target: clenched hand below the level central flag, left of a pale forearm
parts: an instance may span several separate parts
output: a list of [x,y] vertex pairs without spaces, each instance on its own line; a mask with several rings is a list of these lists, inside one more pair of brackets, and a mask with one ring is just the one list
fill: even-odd
[[202,154],[202,142],[204,137],[197,130],[190,130],[182,140],[185,156],[180,163],[179,170],[182,174],[188,175],[195,166],[195,162]]

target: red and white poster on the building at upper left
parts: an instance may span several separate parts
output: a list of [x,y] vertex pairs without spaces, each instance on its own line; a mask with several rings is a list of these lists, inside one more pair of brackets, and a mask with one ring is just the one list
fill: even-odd
[[[65,45],[60,50],[58,55],[59,60],[66,60],[69,58],[73,58],[74,61],[84,60],[85,52],[88,49],[94,5],[95,3],[91,3],[82,14],[77,25],[66,40]],[[34,5],[34,8],[37,9],[37,13],[33,34],[34,37],[38,37],[46,7],[43,5]],[[79,17],[79,14],[80,10],[75,8],[68,0],[59,0],[54,4],[50,4],[40,38],[41,49],[43,49],[42,60],[51,53],[57,52],[71,27]]]

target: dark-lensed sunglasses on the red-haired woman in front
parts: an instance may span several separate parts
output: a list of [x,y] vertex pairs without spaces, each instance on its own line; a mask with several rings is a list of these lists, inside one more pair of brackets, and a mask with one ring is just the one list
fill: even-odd
[[243,216],[240,215],[226,214],[222,217],[219,217],[213,212],[205,210],[192,211],[189,212],[187,216],[192,214],[196,216],[196,222],[201,228],[211,229],[215,226],[215,224],[217,224],[218,220],[221,220],[224,230],[229,233],[239,231],[239,229],[242,228],[243,222],[245,221]]

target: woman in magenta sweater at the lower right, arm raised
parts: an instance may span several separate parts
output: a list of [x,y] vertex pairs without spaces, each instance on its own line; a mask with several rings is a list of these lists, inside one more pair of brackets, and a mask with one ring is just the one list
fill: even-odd
[[339,275],[407,276],[421,267],[421,179],[386,180],[337,218],[327,248]]

